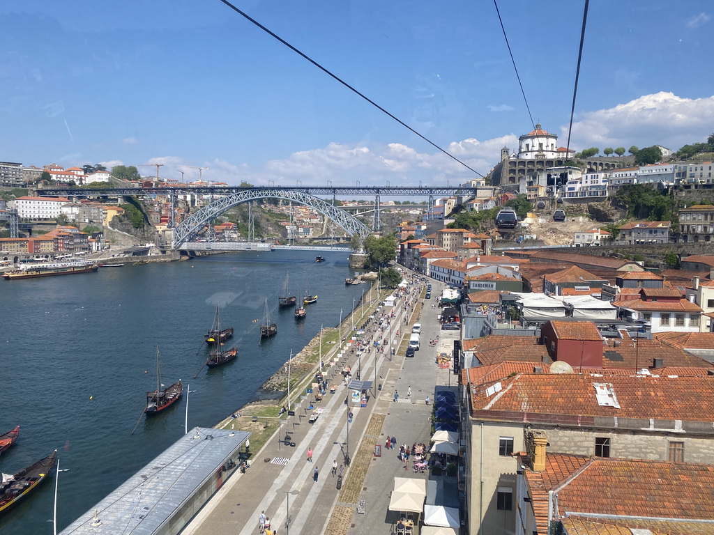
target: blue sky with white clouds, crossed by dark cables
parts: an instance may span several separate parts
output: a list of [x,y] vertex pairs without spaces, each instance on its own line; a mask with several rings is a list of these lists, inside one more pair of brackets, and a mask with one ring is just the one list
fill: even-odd
[[[480,173],[532,129],[491,1],[236,6]],[[565,146],[583,1],[499,8],[533,121]],[[570,146],[705,141],[713,12],[591,2]],[[256,185],[474,176],[218,0],[24,0],[0,27],[3,161]]]

